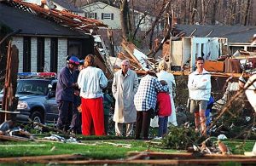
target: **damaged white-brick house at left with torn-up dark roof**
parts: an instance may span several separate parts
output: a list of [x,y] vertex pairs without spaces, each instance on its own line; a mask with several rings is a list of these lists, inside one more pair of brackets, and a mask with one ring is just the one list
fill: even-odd
[[0,26],[20,30],[12,37],[12,44],[19,50],[19,72],[58,72],[66,65],[67,55],[84,59],[86,54],[94,54],[94,37],[85,32],[106,25],[14,0],[1,1]]

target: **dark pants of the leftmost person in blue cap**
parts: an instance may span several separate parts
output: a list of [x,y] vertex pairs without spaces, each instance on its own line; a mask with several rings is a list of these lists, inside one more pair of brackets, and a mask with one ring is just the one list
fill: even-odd
[[57,129],[67,131],[72,120],[73,102],[61,100],[58,101],[59,117],[57,121]]

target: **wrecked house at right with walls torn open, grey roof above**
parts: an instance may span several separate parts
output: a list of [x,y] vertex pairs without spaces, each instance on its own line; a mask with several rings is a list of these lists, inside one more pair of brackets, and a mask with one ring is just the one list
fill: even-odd
[[206,60],[210,72],[241,73],[256,68],[256,45],[252,44],[255,26],[176,25],[173,34],[172,44],[166,41],[162,54],[172,70],[193,71],[196,57]]

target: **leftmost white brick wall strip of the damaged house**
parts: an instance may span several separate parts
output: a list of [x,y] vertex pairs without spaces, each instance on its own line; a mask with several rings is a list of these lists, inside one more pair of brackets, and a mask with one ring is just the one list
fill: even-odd
[[23,72],[23,37],[13,37],[12,44],[19,50],[19,72]]

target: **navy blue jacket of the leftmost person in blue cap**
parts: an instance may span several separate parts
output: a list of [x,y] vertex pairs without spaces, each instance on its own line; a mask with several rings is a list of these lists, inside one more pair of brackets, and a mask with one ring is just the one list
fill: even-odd
[[74,89],[72,84],[74,83],[72,73],[68,67],[63,67],[58,76],[57,88],[56,88],[56,101],[66,100],[72,101],[74,97]]

